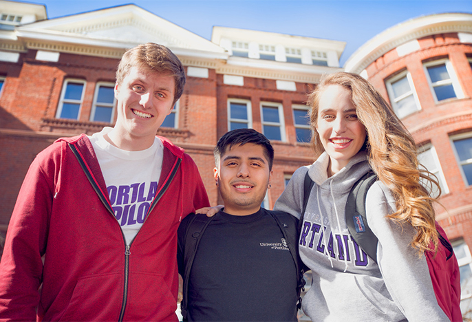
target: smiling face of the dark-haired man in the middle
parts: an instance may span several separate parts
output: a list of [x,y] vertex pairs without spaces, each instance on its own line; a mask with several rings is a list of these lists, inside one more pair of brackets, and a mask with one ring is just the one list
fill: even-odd
[[264,147],[254,143],[227,147],[214,172],[225,213],[244,216],[259,211],[272,177]]

